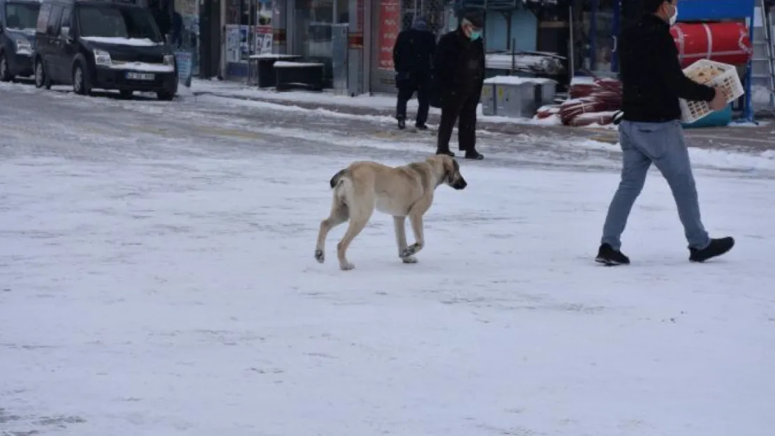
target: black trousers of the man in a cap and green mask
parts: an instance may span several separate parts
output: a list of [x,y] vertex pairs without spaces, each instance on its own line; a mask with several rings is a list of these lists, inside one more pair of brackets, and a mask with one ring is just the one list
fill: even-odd
[[477,105],[480,94],[470,92],[457,98],[450,98],[441,108],[437,152],[449,152],[449,139],[457,122],[457,146],[467,154],[477,152]]

